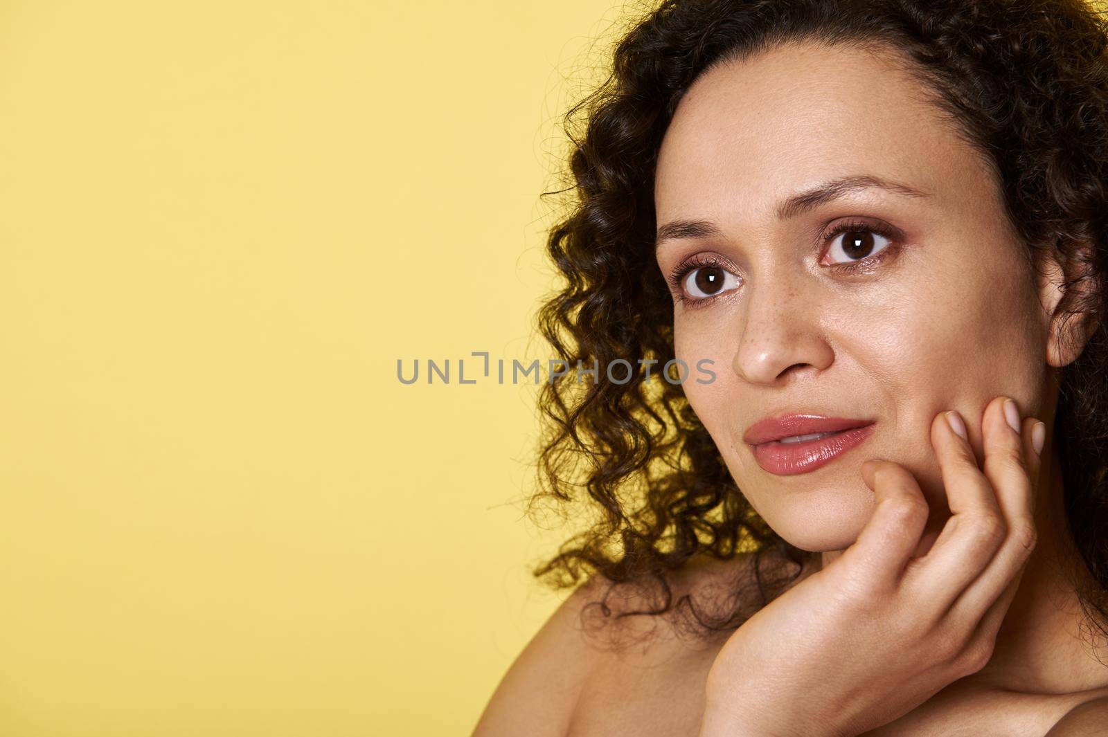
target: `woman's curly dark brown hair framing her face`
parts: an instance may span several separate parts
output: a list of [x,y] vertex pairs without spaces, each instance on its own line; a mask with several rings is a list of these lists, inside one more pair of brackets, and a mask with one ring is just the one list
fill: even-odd
[[[665,0],[648,9],[615,46],[607,80],[565,114],[568,186],[544,194],[568,195],[546,243],[564,286],[538,313],[543,336],[570,366],[675,359],[671,295],[653,266],[663,134],[705,71],[803,40],[901,52],[994,168],[1028,260],[1056,249],[1091,267],[1067,274],[1056,311],[1091,313],[1097,328],[1060,370],[1053,445],[1068,529],[1099,584],[1078,594],[1108,634],[1108,339],[1100,292],[1068,289],[1089,276],[1108,283],[1108,27],[1079,0]],[[599,513],[535,577],[555,589],[594,572],[613,588],[646,580],[660,591],[657,606],[619,616],[686,604],[702,631],[718,631],[751,612],[738,595],[718,616],[702,616],[687,594],[675,604],[669,572],[695,556],[752,553],[757,605],[799,575],[815,553],[753,511],[678,383],[642,372],[625,384],[572,376],[540,395],[546,434],[529,512],[553,499]],[[789,564],[767,575],[765,553]]]

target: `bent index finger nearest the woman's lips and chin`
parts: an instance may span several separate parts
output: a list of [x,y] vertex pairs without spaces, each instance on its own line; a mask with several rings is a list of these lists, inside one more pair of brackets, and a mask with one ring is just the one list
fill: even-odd
[[915,477],[899,464],[866,460],[862,478],[873,490],[876,506],[858,539],[835,562],[862,571],[878,587],[894,588],[920,543],[931,509]]

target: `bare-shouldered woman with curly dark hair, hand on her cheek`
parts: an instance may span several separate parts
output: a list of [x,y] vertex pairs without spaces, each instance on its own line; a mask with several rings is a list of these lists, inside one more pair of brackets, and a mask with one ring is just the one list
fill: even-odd
[[630,30],[542,321],[601,366],[543,397],[545,497],[603,516],[475,735],[1108,734],[1106,40],[1068,0]]

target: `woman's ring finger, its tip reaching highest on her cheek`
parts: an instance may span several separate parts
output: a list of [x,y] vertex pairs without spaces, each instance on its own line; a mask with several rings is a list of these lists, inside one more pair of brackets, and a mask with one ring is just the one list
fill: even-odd
[[[1030,447],[1030,433],[1020,435],[1005,421],[1005,402],[1006,398],[1001,397],[999,402],[989,405],[983,429],[987,454],[985,474],[996,489],[1007,534],[993,560],[954,601],[948,612],[950,617],[962,621],[966,626],[976,625],[1005,591],[1027,562],[1037,538],[1033,511],[1035,485],[1032,481],[1032,463],[1027,458],[1035,457],[1037,468],[1038,454]],[[1019,419],[1018,408],[1016,413],[1014,419],[1017,427],[1035,427],[1034,423]]]

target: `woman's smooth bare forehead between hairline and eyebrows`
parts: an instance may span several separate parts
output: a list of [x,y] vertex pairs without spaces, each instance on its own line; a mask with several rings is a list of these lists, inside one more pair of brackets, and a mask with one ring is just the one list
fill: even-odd
[[655,177],[659,221],[770,217],[791,193],[848,175],[930,191],[984,164],[893,50],[814,42],[706,72],[681,98]]

